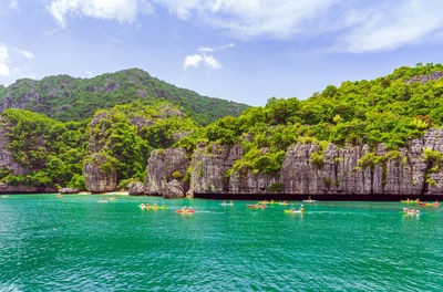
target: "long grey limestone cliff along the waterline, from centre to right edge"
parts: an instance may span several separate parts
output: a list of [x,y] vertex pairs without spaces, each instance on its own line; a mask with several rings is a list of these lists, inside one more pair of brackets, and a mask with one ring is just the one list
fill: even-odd
[[[287,150],[281,170],[276,176],[226,171],[243,156],[239,145],[233,147],[217,144],[197,145],[190,163],[189,194],[268,194],[272,191],[291,195],[356,195],[356,196],[422,196],[443,194],[443,170],[424,156],[424,150],[442,153],[443,129],[432,129],[422,139],[396,152],[384,145],[371,149],[369,145],[338,147],[329,144],[321,153],[317,144],[295,144]],[[313,161],[315,153],[322,161]],[[367,155],[381,158],[373,165],[359,164]],[[182,195],[168,184],[175,169],[185,170],[187,161],[183,149],[167,149],[150,158],[148,189],[151,194],[166,191]],[[178,181],[174,181],[176,186]],[[183,184],[178,184],[183,187]],[[279,188],[274,188],[279,186]]]

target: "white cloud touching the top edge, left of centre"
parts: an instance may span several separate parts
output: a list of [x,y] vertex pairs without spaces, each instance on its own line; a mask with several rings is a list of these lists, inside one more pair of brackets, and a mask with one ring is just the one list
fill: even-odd
[[133,23],[138,13],[151,14],[154,11],[145,0],[53,0],[47,9],[62,28],[66,25],[66,14]]

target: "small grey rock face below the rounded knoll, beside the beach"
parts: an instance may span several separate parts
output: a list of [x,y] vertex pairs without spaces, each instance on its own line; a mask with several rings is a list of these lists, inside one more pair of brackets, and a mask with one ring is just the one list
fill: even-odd
[[83,174],[86,189],[93,194],[113,191],[117,187],[117,176],[115,171],[103,171],[102,166],[106,158],[97,154],[84,165]]

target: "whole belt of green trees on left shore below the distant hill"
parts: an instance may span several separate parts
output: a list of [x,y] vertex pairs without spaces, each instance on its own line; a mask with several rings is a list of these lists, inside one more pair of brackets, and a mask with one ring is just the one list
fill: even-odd
[[62,123],[21,109],[2,113],[1,126],[10,140],[8,150],[28,171],[14,176],[0,171],[0,181],[29,187],[75,187],[84,189],[83,165],[91,152],[107,158],[109,169],[116,170],[122,181],[143,180],[147,158],[155,147],[169,147],[174,134],[197,128],[179,111],[166,105],[140,103],[97,111],[82,123]]

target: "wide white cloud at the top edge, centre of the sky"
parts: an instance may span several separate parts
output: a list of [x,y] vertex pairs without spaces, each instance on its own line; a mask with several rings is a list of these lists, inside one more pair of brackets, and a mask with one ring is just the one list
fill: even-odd
[[195,13],[235,36],[289,38],[326,14],[338,0],[153,0],[178,18]]

